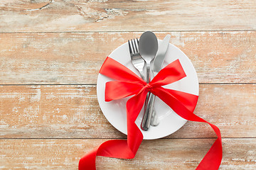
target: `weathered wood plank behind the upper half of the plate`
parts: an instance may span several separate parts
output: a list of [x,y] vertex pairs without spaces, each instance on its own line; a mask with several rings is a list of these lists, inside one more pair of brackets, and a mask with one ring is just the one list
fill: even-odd
[[[142,33],[0,34],[0,84],[95,84],[105,57]],[[156,33],[163,39],[167,33]],[[172,32],[201,83],[255,83],[256,32]]]

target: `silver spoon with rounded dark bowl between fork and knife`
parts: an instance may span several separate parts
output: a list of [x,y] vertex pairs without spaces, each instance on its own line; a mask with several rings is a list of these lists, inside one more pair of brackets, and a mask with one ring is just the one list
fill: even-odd
[[[156,35],[151,31],[144,32],[139,38],[139,53],[146,62],[146,82],[150,81],[150,63],[154,60],[156,52],[158,50],[158,41]],[[150,92],[149,92],[150,93]],[[146,105],[147,105],[146,100]],[[148,130],[151,123],[152,114],[149,111],[145,111],[142,118],[142,130]]]

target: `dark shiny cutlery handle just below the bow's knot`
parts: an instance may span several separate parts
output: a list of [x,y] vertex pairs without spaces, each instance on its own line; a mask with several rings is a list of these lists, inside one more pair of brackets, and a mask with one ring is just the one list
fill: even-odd
[[149,101],[146,105],[146,111],[144,112],[143,118],[142,118],[142,124],[141,128],[142,130],[149,130],[151,118],[154,110],[154,101],[156,96],[154,94],[151,94],[149,92]]

